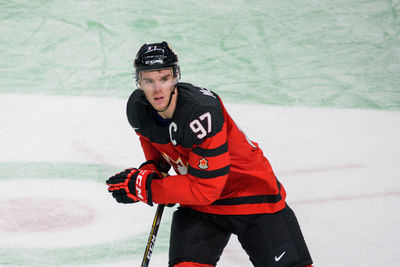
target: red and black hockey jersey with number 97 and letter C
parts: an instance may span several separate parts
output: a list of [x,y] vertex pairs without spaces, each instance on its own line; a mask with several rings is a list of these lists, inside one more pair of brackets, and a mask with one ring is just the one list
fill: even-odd
[[129,123],[147,160],[168,162],[177,175],[152,181],[155,203],[213,214],[274,213],[286,193],[257,143],[250,141],[212,91],[178,83],[177,105],[165,121],[135,90]]

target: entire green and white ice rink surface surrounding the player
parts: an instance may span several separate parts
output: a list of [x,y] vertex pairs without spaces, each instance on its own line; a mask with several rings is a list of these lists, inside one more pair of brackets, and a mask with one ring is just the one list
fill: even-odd
[[[288,193],[314,266],[400,266],[400,2],[0,1],[0,266],[139,266],[155,208],[105,180],[143,160],[132,60],[167,40]],[[166,209],[150,266],[167,266]],[[251,266],[234,236],[218,266]]]

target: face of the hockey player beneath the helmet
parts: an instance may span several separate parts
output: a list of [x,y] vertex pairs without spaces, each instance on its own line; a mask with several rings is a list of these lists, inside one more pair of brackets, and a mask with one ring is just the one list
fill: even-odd
[[171,69],[142,71],[139,85],[143,89],[147,101],[155,110],[164,110],[175,87],[176,78]]

